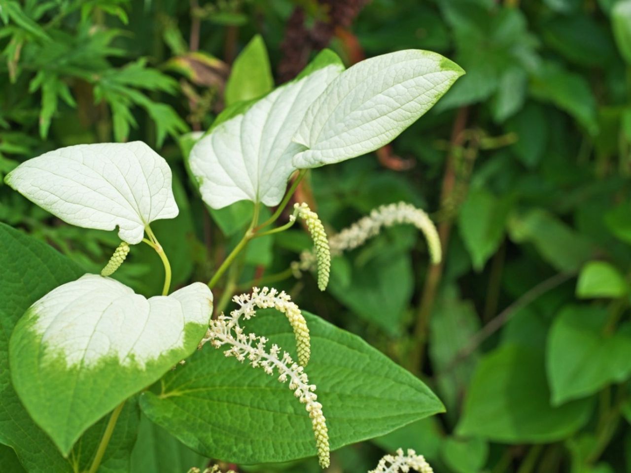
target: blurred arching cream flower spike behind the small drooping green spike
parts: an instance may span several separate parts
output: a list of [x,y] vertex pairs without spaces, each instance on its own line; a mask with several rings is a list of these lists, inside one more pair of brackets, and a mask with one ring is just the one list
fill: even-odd
[[[338,256],[345,251],[362,246],[370,238],[379,235],[382,228],[401,224],[414,225],[422,231],[427,241],[432,264],[439,264],[442,251],[436,226],[425,211],[406,202],[383,205],[372,209],[369,215],[333,235],[329,239],[331,256]],[[300,260],[292,262],[293,274],[299,277],[303,271],[310,271],[314,268],[316,261],[319,260],[314,252],[309,250],[302,252]]]

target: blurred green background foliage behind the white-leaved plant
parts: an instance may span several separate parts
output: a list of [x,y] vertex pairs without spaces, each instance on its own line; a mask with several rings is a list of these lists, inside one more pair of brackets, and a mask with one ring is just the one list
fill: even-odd
[[[391,146],[313,170],[297,192],[331,233],[380,204],[427,209],[443,264],[428,266],[415,230],[392,228],[334,259],[320,293],[287,271],[310,245],[294,228],[254,240],[216,300],[286,289],[439,394],[444,415],[339,450],[332,472],[398,447],[439,473],[631,471],[629,0],[0,0],[0,21],[0,176],[61,146],[150,144],[174,169],[180,215],[154,230],[176,286],[208,281],[252,211],[204,206],[189,132],[322,47],[348,66],[406,48],[454,59],[467,75]],[[0,219],[90,272],[119,243],[6,185]],[[160,265],[134,247],[116,277],[153,295]],[[3,453],[0,469],[18,471]],[[143,420],[134,473],[207,461]]]

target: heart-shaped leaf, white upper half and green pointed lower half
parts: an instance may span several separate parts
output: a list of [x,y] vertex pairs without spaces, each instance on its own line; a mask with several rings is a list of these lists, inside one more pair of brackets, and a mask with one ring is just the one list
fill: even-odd
[[194,351],[212,300],[202,283],[148,300],[95,274],[63,284],[35,302],[13,331],[15,390],[68,455],[88,427]]

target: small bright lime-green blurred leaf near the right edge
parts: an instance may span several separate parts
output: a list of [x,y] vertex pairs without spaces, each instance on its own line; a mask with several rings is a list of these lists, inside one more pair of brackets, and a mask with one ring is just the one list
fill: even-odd
[[624,276],[605,261],[590,261],[583,266],[576,284],[576,296],[580,299],[622,297],[628,290]]

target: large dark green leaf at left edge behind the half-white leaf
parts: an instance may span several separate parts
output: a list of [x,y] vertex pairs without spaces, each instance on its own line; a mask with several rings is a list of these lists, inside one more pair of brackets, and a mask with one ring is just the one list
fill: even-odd
[[[30,473],[71,473],[74,469],[69,459],[64,459],[49,436],[33,423],[13,390],[9,374],[8,345],[13,327],[28,306],[50,289],[80,276],[82,271],[53,248],[2,223],[0,248],[0,267],[3,268],[0,272],[0,297],[3,300],[0,306],[0,442],[15,449],[18,458]],[[133,404],[126,406],[114,431],[117,441],[107,449],[103,457],[102,465],[109,468],[106,471],[110,473],[126,471],[124,467],[116,470],[114,466],[124,463],[122,460],[129,457],[134,443],[136,432],[132,426],[132,408],[135,409],[136,422],[138,421],[137,407]],[[86,438],[81,439],[78,461],[82,470],[89,467],[90,457],[97,449],[105,423],[107,418],[91,427],[86,432]],[[0,468],[0,471],[12,470]]]

